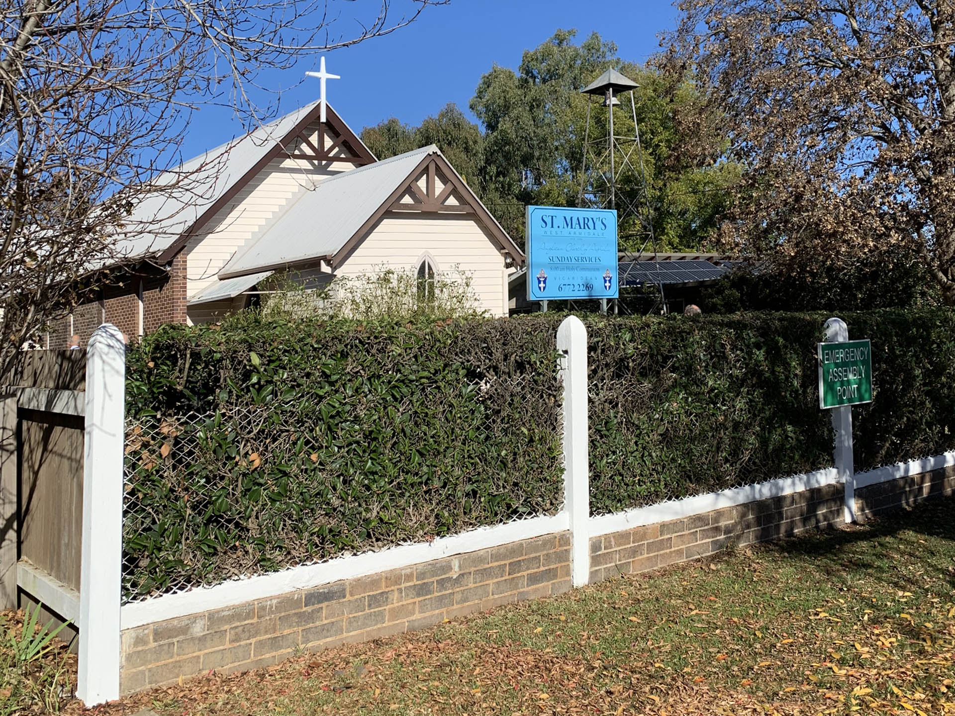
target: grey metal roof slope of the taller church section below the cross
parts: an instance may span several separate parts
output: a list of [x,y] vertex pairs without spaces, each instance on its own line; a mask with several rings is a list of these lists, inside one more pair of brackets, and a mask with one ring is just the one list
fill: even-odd
[[120,255],[135,258],[168,248],[317,104],[311,102],[160,174],[155,180],[159,186],[177,181],[180,186],[139,202],[124,221],[123,238],[117,242]]

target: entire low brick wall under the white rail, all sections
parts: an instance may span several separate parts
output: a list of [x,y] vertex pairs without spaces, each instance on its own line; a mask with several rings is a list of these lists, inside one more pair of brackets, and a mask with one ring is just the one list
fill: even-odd
[[[955,467],[860,488],[861,516],[955,494]],[[843,486],[756,500],[591,537],[590,583],[711,555],[724,547],[843,522]],[[445,619],[570,589],[570,534],[249,601],[122,632],[124,694],[180,677],[277,663],[321,649],[424,628]]]

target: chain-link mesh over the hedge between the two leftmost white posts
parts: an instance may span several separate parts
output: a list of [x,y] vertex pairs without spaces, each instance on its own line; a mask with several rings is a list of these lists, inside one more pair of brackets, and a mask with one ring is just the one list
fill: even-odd
[[[346,414],[273,403],[129,420],[123,600],[556,513],[552,382],[420,386]],[[364,411],[385,416],[373,434]]]

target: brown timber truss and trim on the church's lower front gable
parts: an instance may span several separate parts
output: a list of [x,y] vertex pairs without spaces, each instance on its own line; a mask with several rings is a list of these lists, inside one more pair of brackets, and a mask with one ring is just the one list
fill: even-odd
[[[438,183],[441,188],[438,189]],[[422,186],[423,184],[423,186]],[[438,151],[430,153],[414,168],[408,179],[401,182],[392,195],[371,214],[361,228],[348,242],[327,257],[332,269],[344,263],[351,251],[362,241],[371,229],[386,214],[393,216],[414,216],[414,214],[456,214],[471,215],[482,224],[491,235],[504,257],[509,257],[516,265],[524,261],[524,254],[501,228],[498,221],[477,199],[475,193],[464,183],[454,167]]]

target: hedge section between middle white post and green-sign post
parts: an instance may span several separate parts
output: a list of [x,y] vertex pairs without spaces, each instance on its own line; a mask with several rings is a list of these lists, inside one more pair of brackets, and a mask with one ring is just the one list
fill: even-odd
[[590,511],[832,464],[818,316],[591,320]]

